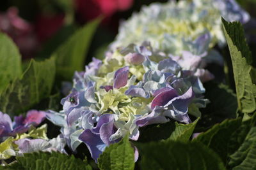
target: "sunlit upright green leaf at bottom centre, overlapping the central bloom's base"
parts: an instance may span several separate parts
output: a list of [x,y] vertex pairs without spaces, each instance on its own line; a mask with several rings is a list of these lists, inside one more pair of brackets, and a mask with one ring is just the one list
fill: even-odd
[[109,145],[100,155],[99,168],[108,169],[134,169],[134,149],[129,142],[129,137],[125,136],[119,143]]

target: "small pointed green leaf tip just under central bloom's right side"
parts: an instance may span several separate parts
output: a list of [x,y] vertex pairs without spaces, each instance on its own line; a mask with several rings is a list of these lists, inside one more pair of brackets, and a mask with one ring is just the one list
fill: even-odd
[[189,141],[189,138],[193,133],[198,120],[199,118],[197,118],[191,124],[179,124],[175,122],[175,130],[172,132],[170,138],[168,138],[167,140],[183,141],[183,142]]

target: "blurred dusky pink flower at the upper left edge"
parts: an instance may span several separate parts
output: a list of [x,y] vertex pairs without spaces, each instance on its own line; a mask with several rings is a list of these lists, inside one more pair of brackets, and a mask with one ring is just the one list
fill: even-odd
[[19,10],[15,7],[9,8],[6,13],[0,13],[0,31],[13,39],[24,57],[32,57],[38,48],[33,25],[20,18],[18,13]]

